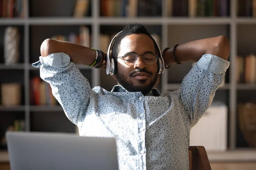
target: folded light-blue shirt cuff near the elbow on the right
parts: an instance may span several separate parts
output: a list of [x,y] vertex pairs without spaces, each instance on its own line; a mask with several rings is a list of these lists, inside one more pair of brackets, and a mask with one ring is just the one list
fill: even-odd
[[223,74],[229,68],[230,62],[212,54],[204,54],[197,62],[197,65],[199,68],[211,73]]

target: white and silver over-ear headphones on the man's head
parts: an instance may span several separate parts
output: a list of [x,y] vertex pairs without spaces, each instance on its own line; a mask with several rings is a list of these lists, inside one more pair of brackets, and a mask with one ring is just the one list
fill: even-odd
[[[112,58],[112,55],[110,54],[110,51],[112,50],[112,46],[113,43],[116,40],[116,37],[121,33],[122,31],[120,31],[119,33],[117,33],[115,35],[115,37],[113,37],[113,39],[111,40],[109,46],[108,46],[108,53],[107,53],[107,62],[106,62],[106,73],[107,74],[111,74],[111,76],[116,75],[117,74],[117,62],[115,59]],[[152,37],[151,37],[152,38]],[[162,53],[161,50],[159,48],[159,45],[157,44],[157,42],[154,40],[154,38],[152,38],[153,41],[155,42],[155,44],[157,45],[157,49],[158,49],[158,56],[157,59],[159,60],[159,65],[157,65],[158,68],[158,74],[161,74],[164,72],[164,61],[163,61],[163,57],[162,57]]]

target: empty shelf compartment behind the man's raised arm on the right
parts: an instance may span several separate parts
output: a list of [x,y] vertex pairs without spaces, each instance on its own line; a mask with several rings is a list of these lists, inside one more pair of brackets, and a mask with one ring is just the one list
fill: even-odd
[[[220,35],[229,38],[229,30],[229,25],[170,25],[168,28],[168,46],[173,47],[175,44],[183,44]],[[181,65],[171,65],[168,70],[168,83],[181,83],[191,68],[191,62],[182,63]],[[229,83],[229,70],[226,72],[225,82]]]

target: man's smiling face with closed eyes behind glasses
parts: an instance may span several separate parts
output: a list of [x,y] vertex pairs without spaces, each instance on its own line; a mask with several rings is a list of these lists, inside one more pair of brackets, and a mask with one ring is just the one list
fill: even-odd
[[[148,52],[156,53],[153,40],[145,34],[131,34],[122,39],[118,57],[127,53],[143,55]],[[122,58],[117,61],[117,80],[120,85],[131,92],[147,94],[151,91],[157,81],[157,62],[147,65],[143,56],[139,56],[134,65],[126,65]]]

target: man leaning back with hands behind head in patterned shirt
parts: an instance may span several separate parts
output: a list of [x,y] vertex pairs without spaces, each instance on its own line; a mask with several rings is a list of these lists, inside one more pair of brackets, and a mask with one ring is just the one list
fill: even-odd
[[97,59],[100,51],[47,39],[34,66],[41,67],[41,78],[50,83],[80,136],[116,138],[120,170],[187,170],[190,129],[223,82],[230,45],[219,36],[166,48],[166,68],[199,61],[179,90],[163,94],[153,88],[160,67],[158,52],[144,26],[126,26],[113,44],[119,85],[111,92],[91,89],[75,66],[102,65],[104,59]]

